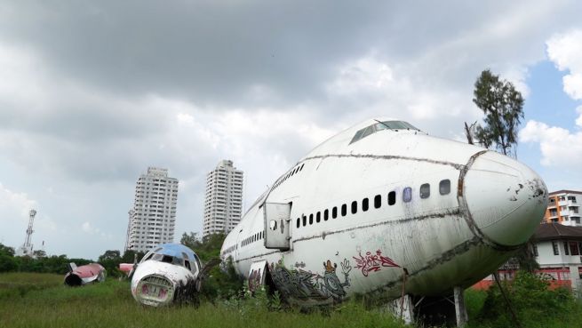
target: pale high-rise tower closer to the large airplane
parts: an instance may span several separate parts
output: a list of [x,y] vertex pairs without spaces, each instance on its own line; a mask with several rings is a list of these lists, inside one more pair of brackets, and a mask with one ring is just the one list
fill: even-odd
[[206,175],[203,236],[235,228],[243,212],[243,171],[232,161],[220,161]]

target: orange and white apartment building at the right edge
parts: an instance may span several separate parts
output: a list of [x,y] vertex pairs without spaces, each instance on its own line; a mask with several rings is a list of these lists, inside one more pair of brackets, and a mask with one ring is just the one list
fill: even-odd
[[562,223],[565,226],[581,226],[580,203],[582,191],[558,190],[551,192],[542,223]]

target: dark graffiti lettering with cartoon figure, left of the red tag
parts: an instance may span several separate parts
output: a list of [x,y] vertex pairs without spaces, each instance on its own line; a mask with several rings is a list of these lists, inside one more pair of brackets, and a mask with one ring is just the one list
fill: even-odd
[[338,265],[331,260],[323,262],[323,274],[306,271],[301,268],[288,269],[280,260],[276,265],[271,263],[270,273],[277,289],[284,296],[299,300],[341,300],[346,296],[345,288],[349,286],[349,272],[352,269],[349,260],[339,263],[344,281],[336,274]]

